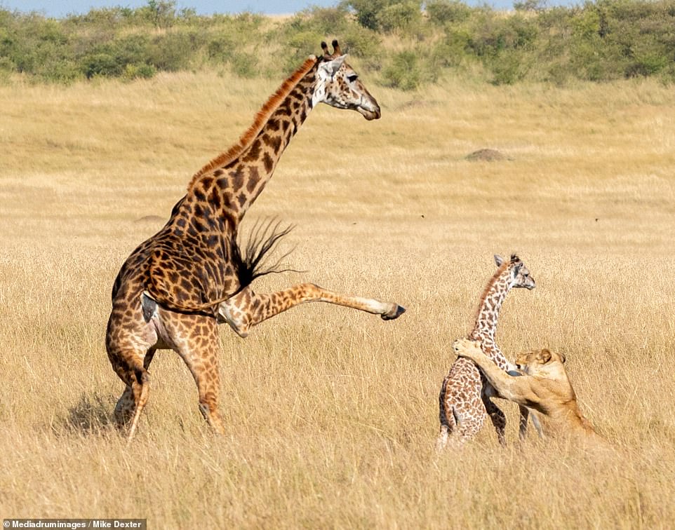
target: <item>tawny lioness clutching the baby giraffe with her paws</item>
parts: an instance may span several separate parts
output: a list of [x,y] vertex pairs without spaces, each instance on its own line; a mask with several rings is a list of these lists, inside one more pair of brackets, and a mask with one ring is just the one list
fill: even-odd
[[453,347],[457,355],[479,366],[500,397],[540,412],[544,434],[554,437],[572,434],[606,443],[577,405],[577,396],[563,364],[565,355],[546,349],[521,353],[516,365],[524,374],[512,376],[497,367],[474,341],[457,339]]

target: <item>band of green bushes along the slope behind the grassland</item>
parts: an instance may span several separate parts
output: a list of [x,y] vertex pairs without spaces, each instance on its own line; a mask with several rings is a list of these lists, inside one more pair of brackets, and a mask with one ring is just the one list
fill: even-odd
[[[587,0],[514,13],[460,0],[342,0],[283,22],[262,15],[199,16],[173,0],[92,9],[62,20],[0,8],[0,72],[36,81],[152,77],[227,65],[279,77],[337,38],[382,84],[411,90],[443,72],[481,72],[495,84],[634,76],[675,79],[675,0]],[[260,53],[261,48],[267,48]]]

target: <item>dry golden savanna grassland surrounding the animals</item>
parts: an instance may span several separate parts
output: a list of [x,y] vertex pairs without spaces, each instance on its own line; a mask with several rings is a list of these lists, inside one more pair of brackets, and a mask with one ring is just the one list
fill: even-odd
[[[354,64],[358,67],[358,64]],[[363,76],[368,84],[368,76]],[[0,86],[3,517],[142,517],[149,528],[665,528],[675,520],[675,95],[657,81],[410,93],[382,119],[321,106],[246,217],[296,224],[309,280],[397,301],[394,322],[309,304],[248,339],[221,328],[215,437],[178,355],[156,355],[131,447],[112,426],[110,290],[189,177],[277,81],[208,71]],[[481,148],[502,161],[469,161]],[[245,230],[246,231],[246,230]],[[451,344],[493,254],[537,281],[509,294],[507,357],[567,355],[613,454],[486,426],[436,456]]]

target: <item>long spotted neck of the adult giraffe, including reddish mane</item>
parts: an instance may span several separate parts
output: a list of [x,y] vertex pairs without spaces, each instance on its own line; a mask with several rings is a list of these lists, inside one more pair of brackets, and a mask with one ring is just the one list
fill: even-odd
[[239,224],[314,106],[318,64],[310,57],[284,81],[239,144],[194,175],[180,208],[198,217],[208,212],[216,224]]

